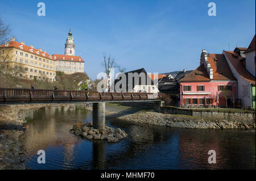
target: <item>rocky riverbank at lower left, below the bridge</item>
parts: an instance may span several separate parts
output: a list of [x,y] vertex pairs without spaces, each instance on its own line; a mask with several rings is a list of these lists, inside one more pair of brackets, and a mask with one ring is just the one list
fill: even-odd
[[24,166],[22,157],[22,134],[25,131],[23,124],[26,123],[24,112],[47,106],[49,105],[0,106],[0,169],[28,169]]

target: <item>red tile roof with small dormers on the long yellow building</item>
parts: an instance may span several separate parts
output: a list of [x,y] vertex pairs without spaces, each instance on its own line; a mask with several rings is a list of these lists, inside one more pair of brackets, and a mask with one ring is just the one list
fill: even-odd
[[32,47],[28,47],[27,45],[24,45],[22,43],[18,43],[16,41],[9,41],[3,45],[0,46],[0,48],[2,47],[15,47],[15,48],[18,48],[20,50],[24,50],[28,53],[32,53],[32,54],[35,54],[37,56],[42,56],[42,57],[46,57],[46,58],[49,58],[49,59],[52,59],[52,56],[46,52],[42,52],[40,51],[39,49],[35,49],[35,48],[32,48]]

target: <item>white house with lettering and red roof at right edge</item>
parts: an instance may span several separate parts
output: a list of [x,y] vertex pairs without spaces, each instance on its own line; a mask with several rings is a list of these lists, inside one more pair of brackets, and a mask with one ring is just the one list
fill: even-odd
[[[255,36],[245,52],[223,51],[238,82],[238,99],[243,107],[255,108]],[[246,48],[245,48],[246,49]]]

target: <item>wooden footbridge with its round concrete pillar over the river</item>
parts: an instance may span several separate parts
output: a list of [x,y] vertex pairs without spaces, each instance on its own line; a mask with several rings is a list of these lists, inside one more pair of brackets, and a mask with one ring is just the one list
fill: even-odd
[[0,105],[93,103],[93,127],[105,128],[105,102],[154,102],[160,112],[162,95],[148,92],[97,92],[0,88]]

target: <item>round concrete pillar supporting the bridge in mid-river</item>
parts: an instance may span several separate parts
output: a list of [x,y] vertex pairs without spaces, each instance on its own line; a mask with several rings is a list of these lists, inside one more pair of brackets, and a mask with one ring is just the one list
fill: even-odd
[[105,103],[93,103],[93,128],[105,128]]

